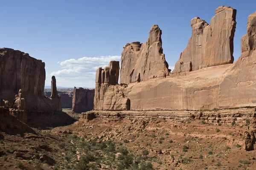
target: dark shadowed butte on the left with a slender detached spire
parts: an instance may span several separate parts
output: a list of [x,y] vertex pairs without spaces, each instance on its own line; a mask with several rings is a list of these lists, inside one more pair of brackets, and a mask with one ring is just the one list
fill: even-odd
[[0,106],[8,106],[17,117],[26,111],[61,111],[54,76],[51,97],[44,96],[44,67],[44,62],[27,53],[0,48]]

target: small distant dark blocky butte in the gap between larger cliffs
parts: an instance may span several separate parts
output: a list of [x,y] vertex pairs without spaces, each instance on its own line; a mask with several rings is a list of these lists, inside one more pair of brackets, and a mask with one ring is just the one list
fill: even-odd
[[72,111],[82,113],[93,110],[94,89],[74,88]]

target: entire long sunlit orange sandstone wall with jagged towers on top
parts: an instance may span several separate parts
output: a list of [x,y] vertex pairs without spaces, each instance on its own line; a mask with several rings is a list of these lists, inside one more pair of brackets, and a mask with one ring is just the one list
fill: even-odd
[[94,109],[105,111],[212,110],[256,106],[256,13],[248,17],[241,56],[233,63],[236,9],[220,6],[210,25],[195,17],[192,37],[174,71],[168,70],[161,34],[124,46],[119,63],[96,71]]

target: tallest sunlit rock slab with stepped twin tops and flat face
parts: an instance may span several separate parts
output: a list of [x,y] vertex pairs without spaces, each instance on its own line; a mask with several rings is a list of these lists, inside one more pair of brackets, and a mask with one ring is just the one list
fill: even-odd
[[195,17],[191,20],[191,27],[192,36],[172,73],[233,63],[236,9],[220,6],[215,10],[210,25]]

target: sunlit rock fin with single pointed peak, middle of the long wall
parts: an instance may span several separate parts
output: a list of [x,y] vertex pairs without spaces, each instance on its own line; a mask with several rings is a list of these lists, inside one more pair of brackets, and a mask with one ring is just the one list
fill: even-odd
[[154,25],[150,29],[147,42],[131,42],[124,46],[121,57],[121,84],[169,75],[161,35],[162,30]]

